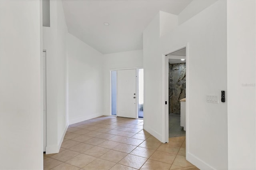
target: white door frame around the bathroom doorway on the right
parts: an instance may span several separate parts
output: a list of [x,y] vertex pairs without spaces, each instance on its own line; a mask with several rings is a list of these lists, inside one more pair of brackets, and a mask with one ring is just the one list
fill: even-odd
[[[163,67],[163,71],[164,71],[164,74],[162,76],[162,78],[164,79],[164,86],[163,86],[163,99],[164,99],[164,102],[166,101],[167,104],[164,103],[164,107],[163,107],[163,114],[164,114],[164,120],[163,120],[163,126],[164,126],[164,138],[165,138],[165,142],[168,143],[169,142],[169,88],[168,88],[168,85],[169,85],[169,65],[168,65],[168,55],[170,53],[174,53],[176,51],[179,51],[181,49],[184,49],[186,48],[186,127],[188,127],[188,117],[189,117],[189,93],[188,93],[188,90],[189,90],[189,43],[186,43],[186,45],[180,45],[179,47],[176,47],[174,50],[170,50],[170,51],[167,51],[166,53],[164,53],[162,55],[162,58],[163,58],[163,63],[164,63],[164,67]],[[178,58],[178,57],[177,57]],[[186,129],[186,146],[188,146],[188,142],[189,142],[189,138],[187,138],[189,134],[189,128]],[[186,149],[186,156],[188,154],[187,152],[188,149]]]

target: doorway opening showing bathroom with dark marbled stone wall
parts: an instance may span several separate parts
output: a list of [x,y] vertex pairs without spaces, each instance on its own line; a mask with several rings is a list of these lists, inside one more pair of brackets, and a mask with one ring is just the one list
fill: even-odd
[[168,137],[186,136],[186,48],[166,55]]

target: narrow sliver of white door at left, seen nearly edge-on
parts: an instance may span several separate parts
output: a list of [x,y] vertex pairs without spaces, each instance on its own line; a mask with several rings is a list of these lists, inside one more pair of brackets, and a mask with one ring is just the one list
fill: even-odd
[[46,148],[46,51],[43,51],[43,114],[44,114],[44,152]]

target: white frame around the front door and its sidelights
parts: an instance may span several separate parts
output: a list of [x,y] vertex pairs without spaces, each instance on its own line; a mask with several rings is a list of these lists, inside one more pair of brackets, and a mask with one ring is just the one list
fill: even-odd
[[117,114],[116,115],[112,115],[111,71],[130,70],[130,69],[136,69],[136,119],[142,119],[142,118],[138,118],[138,69],[143,69],[143,67],[127,67],[127,68],[116,68],[116,69],[110,69],[109,70],[109,80],[110,80],[110,94],[109,94],[109,97],[110,97],[110,103],[109,103],[110,109],[109,109],[109,113],[110,113],[110,116],[116,116],[117,117]]

